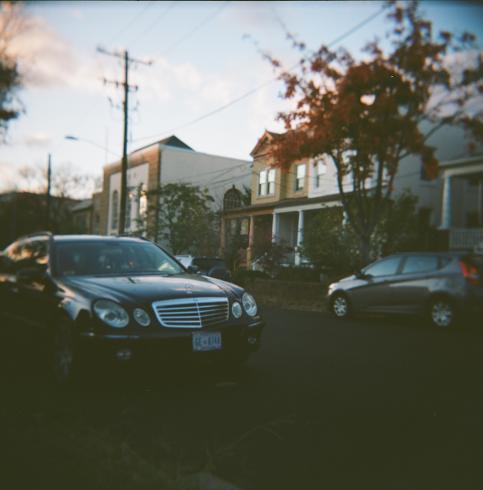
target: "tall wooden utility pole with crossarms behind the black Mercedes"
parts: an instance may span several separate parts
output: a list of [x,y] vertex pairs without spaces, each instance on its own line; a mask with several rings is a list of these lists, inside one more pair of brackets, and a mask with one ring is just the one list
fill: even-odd
[[123,141],[122,141],[122,161],[121,161],[121,209],[119,212],[119,229],[118,233],[122,235],[126,226],[126,203],[127,203],[127,137],[128,137],[128,122],[129,122],[129,92],[131,90],[137,91],[137,85],[129,85],[129,64],[140,63],[143,65],[151,65],[152,61],[143,61],[135,58],[131,58],[127,50],[122,52],[106,51],[104,48],[98,47],[97,51],[108,56],[114,56],[120,58],[124,62],[124,80],[122,82],[116,80],[106,80],[104,83],[111,83],[119,88],[122,86],[124,98],[123,98]]

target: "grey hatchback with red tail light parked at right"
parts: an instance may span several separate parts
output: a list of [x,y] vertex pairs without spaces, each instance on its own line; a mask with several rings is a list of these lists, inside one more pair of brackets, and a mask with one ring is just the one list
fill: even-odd
[[483,257],[462,253],[404,253],[378,260],[329,286],[339,318],[357,312],[426,315],[451,327],[465,313],[483,313]]

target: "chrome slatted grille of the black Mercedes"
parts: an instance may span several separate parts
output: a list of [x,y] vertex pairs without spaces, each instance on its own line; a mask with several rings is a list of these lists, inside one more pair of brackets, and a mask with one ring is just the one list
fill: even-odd
[[182,298],[155,301],[153,310],[163,327],[202,328],[228,320],[228,298]]

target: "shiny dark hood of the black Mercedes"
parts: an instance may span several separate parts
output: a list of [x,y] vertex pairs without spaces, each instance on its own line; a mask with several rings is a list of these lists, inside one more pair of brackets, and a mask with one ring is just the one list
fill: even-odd
[[138,304],[199,296],[222,297],[231,293],[230,288],[223,287],[220,281],[193,274],[82,276],[65,278],[63,282],[90,298]]

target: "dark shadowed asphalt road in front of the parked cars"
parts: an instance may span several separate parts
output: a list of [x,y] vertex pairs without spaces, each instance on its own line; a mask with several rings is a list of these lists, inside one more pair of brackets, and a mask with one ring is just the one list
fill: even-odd
[[28,349],[10,355],[2,333],[0,481],[16,474],[9,488],[27,488],[25,468],[28,488],[54,490],[63,467],[95,488],[54,437],[72,424],[246,490],[483,488],[483,330],[265,315],[263,346],[239,373],[119,369],[66,393],[22,362]]

